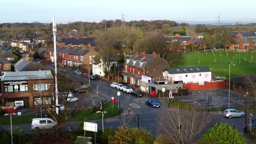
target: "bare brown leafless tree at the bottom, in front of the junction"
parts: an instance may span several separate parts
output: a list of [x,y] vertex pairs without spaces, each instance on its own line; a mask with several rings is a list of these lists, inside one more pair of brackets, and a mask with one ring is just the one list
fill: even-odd
[[193,143],[207,127],[210,115],[194,106],[174,102],[160,120],[159,129],[166,143]]

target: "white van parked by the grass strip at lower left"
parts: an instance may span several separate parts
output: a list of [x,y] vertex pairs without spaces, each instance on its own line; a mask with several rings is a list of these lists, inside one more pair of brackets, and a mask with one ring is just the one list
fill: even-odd
[[51,118],[33,118],[31,129],[39,130],[39,129],[53,129],[53,127],[57,123]]

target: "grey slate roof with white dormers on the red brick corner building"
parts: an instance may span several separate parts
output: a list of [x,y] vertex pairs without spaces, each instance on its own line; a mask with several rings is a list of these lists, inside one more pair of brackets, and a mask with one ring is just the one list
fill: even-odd
[[[142,58],[142,54],[139,53],[138,56],[129,57],[125,61],[125,65],[130,65],[132,67],[144,69],[146,67],[147,62],[156,57],[156,55],[146,54],[145,58]],[[135,63],[133,63],[135,62]]]

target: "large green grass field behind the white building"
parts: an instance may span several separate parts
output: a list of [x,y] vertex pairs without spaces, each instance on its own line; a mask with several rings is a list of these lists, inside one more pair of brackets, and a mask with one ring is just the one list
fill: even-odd
[[256,74],[256,53],[250,52],[205,52],[188,53],[184,56],[184,63],[177,67],[207,66],[212,75],[229,77],[243,74]]

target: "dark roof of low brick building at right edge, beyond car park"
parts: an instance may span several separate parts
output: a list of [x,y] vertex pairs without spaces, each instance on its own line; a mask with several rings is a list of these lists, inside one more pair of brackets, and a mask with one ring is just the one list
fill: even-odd
[[[250,80],[252,80],[253,83],[256,83],[256,75],[254,75],[254,74],[246,74],[246,75],[232,77],[232,78],[230,78],[230,82],[237,83],[242,86],[251,87],[251,85],[249,84],[249,82],[247,80],[247,77]],[[226,79],[226,81],[229,81],[229,79]]]

